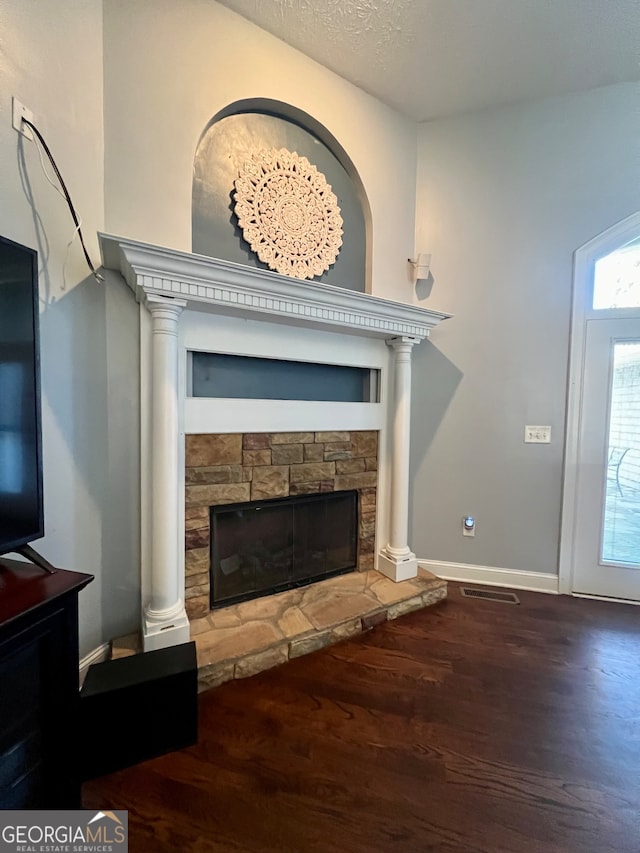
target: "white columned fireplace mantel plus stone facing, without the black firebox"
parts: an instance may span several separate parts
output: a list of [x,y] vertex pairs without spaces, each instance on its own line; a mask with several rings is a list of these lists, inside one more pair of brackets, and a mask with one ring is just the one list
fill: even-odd
[[[358,569],[376,568],[393,581],[415,578],[418,561],[408,543],[411,353],[448,315],[105,234],[100,245],[104,267],[121,272],[140,303],[144,649],[185,642],[189,620],[210,612],[213,505],[355,489]],[[403,270],[398,265],[399,275]],[[188,361],[197,352],[366,368],[380,380],[379,395],[330,403],[196,397]],[[206,462],[190,461],[191,440],[248,429],[303,438],[295,448],[271,447],[268,465],[260,461],[267,448],[245,448],[242,437],[235,462],[208,463],[216,470],[206,471]],[[358,433],[375,435],[375,466],[353,448],[328,446],[346,443],[339,438],[317,440],[319,431],[335,430],[348,431],[351,442]],[[238,435],[230,439],[236,448]],[[245,450],[254,458],[244,458]]]

